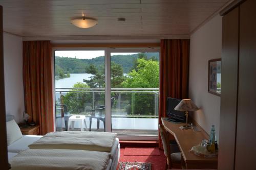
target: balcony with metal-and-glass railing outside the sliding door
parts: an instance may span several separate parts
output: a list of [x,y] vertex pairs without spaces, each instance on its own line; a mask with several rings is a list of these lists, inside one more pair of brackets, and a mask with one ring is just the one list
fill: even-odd
[[[65,112],[69,115],[85,115],[89,130],[91,110],[104,105],[104,90],[105,88],[56,88],[56,108],[65,105]],[[156,136],[158,91],[158,88],[111,88],[111,96],[115,97],[111,108],[112,132],[122,135]],[[97,129],[95,118],[92,119],[91,125],[92,131],[104,131],[101,121]],[[75,122],[73,130],[80,128],[81,125]],[[56,130],[66,130],[65,116],[59,109],[56,109]]]

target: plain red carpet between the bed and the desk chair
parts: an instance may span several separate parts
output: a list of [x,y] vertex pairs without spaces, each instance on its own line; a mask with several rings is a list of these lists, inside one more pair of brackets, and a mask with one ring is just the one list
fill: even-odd
[[[142,147],[143,149],[145,147]],[[149,148],[152,150],[152,148]],[[158,150],[158,148],[156,148]],[[152,163],[152,169],[154,170],[164,170],[166,164],[166,157],[162,150],[159,150],[158,156],[156,155],[148,155],[148,156],[125,156],[124,148],[120,149],[120,160],[119,162],[145,162]]]

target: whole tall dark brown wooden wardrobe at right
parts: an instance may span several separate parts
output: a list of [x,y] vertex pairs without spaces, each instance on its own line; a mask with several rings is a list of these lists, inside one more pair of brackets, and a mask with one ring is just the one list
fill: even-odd
[[256,169],[256,0],[221,11],[219,170]]

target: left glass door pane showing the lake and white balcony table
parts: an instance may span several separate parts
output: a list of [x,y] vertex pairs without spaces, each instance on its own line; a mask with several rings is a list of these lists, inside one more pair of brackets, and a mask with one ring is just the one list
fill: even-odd
[[104,131],[104,50],[55,51],[56,131]]

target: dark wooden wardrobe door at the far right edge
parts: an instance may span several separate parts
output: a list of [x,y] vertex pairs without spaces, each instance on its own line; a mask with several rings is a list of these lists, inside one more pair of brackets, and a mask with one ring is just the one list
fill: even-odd
[[240,6],[240,54],[235,169],[256,169],[256,1]]

